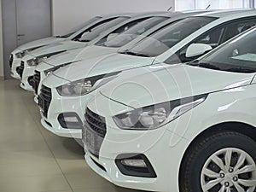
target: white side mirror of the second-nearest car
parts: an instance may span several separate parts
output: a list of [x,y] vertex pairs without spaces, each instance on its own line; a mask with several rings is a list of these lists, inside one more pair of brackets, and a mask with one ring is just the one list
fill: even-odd
[[212,46],[209,44],[190,44],[186,51],[186,57],[200,56],[209,50],[212,50]]

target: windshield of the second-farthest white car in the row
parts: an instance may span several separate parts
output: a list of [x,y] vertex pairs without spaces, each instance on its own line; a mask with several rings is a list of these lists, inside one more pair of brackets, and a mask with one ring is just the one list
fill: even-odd
[[92,31],[88,32],[87,34],[83,35],[82,38],[79,38],[81,42],[90,42],[92,39],[97,38],[101,35],[102,32],[107,31],[113,26],[118,25],[119,23],[123,22],[124,20],[129,19],[129,17],[118,17],[114,20],[111,20],[107,23],[104,23],[102,26],[96,27]]

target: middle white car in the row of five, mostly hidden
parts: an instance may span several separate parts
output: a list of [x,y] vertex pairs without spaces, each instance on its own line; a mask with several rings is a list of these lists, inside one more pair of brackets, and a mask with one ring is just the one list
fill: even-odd
[[176,20],[181,20],[190,15],[198,14],[199,12],[202,11],[183,13],[168,12],[166,14],[155,15],[147,20],[143,20],[136,26],[132,26],[130,29],[120,33],[117,37],[112,38],[103,44],[95,44],[86,48],[68,50],[64,53],[45,59],[39,63],[35,69],[32,83],[32,87],[35,91],[34,101],[38,102],[38,94],[40,94],[42,81],[49,75],[49,73],[75,61],[86,60],[101,55],[109,55],[111,53],[116,53],[120,49],[129,49],[144,37],[160,30],[164,26],[170,25]]

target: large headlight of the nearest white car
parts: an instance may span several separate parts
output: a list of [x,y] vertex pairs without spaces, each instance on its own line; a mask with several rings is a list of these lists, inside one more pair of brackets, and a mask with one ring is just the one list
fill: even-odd
[[207,95],[177,99],[171,102],[138,108],[113,116],[113,121],[124,130],[150,130],[166,125],[183,113],[204,102]]

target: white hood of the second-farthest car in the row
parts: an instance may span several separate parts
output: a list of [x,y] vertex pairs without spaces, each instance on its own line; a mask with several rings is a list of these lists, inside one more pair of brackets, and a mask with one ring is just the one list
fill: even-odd
[[47,55],[55,52],[70,50],[70,49],[78,49],[81,47],[85,47],[87,43],[81,43],[78,41],[63,41],[57,44],[49,44],[42,48],[38,48],[28,52],[29,55],[33,57],[37,57],[40,55]]

